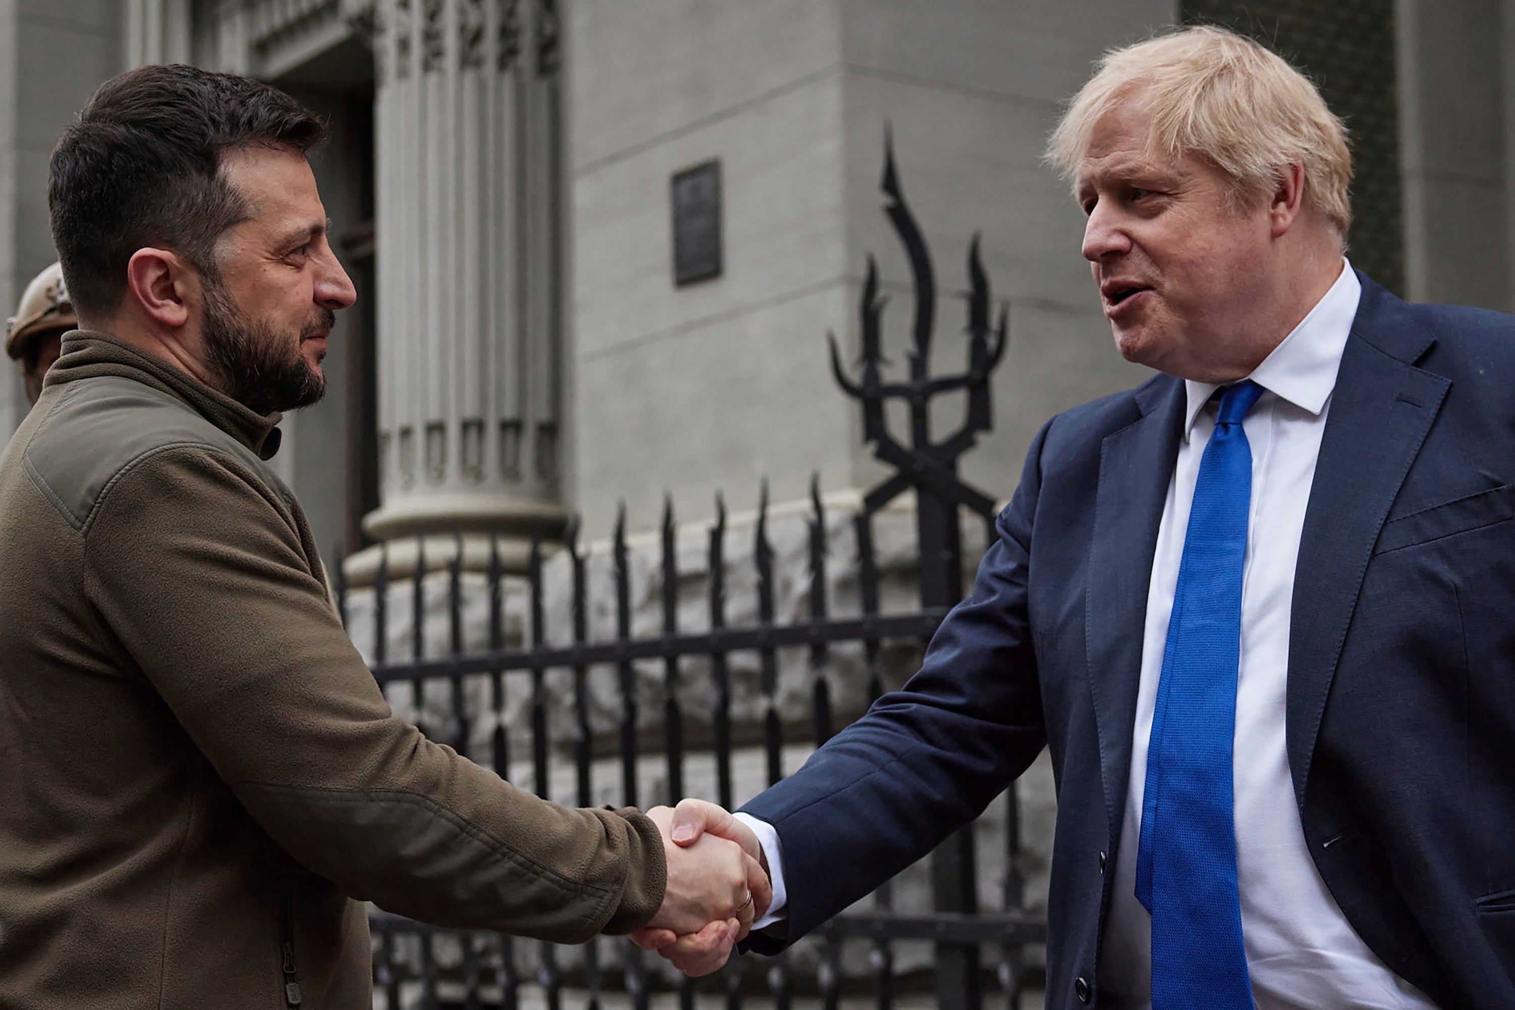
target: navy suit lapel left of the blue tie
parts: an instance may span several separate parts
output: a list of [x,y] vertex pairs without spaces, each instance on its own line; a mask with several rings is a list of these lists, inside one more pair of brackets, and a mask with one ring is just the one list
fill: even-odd
[[1136,391],[1142,416],[1104,438],[1089,551],[1085,648],[1100,734],[1110,837],[1118,837],[1132,763],[1151,559],[1183,433],[1183,383],[1162,377]]

